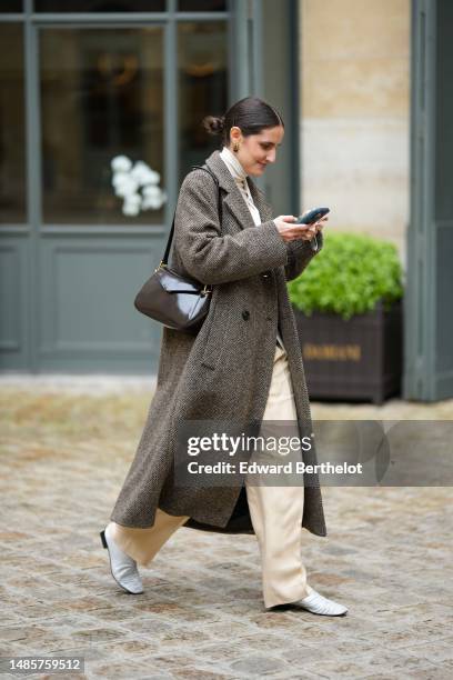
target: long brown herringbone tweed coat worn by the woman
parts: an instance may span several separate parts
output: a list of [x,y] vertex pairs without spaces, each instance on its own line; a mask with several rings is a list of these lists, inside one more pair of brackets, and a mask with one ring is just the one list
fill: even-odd
[[[178,199],[170,266],[213,284],[209,314],[197,336],[162,327],[157,390],[111,520],[124,527],[151,527],[159,507],[169,514],[190,517],[188,527],[253,533],[243,487],[173,484],[174,426],[177,419],[261,422],[280,322],[300,436],[311,433],[301,346],[285,281],[298,277],[315,253],[306,241],[283,241],[272,208],[249,178],[262,218],[262,224],[254,224],[219,151],[205,162],[222,191],[222,236],[218,188],[204,170],[193,170]],[[321,249],[322,234],[318,241]],[[303,457],[315,463],[314,447]],[[305,474],[304,487],[301,523],[325,536],[318,476]]]

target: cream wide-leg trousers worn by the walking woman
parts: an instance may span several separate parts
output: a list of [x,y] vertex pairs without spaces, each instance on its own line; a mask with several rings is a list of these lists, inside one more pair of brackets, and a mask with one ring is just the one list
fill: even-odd
[[[296,419],[286,352],[276,344],[263,421],[296,422]],[[276,462],[284,461],[280,459]],[[312,589],[306,583],[301,556],[303,487],[252,486],[245,480],[245,490],[261,553],[264,606],[275,607],[305,598]],[[110,524],[112,538],[121,550],[139,564],[148,566],[188,519],[158,509],[154,524],[147,529],[122,527],[115,522]]]

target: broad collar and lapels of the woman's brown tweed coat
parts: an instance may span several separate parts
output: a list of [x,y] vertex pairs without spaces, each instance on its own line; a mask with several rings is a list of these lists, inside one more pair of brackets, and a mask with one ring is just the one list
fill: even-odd
[[[205,163],[218,178],[219,186],[226,192],[226,196],[223,199],[223,204],[226,206],[230,212],[234,214],[241,229],[255,227],[253,218],[250,214],[250,210],[242,198],[234,178],[220,157],[220,151],[213,151],[211,156],[207,158]],[[265,201],[264,193],[256,187],[254,181],[249,176],[246,181],[253,202],[260,212],[261,220],[263,222],[271,220],[273,214],[272,206]]]

